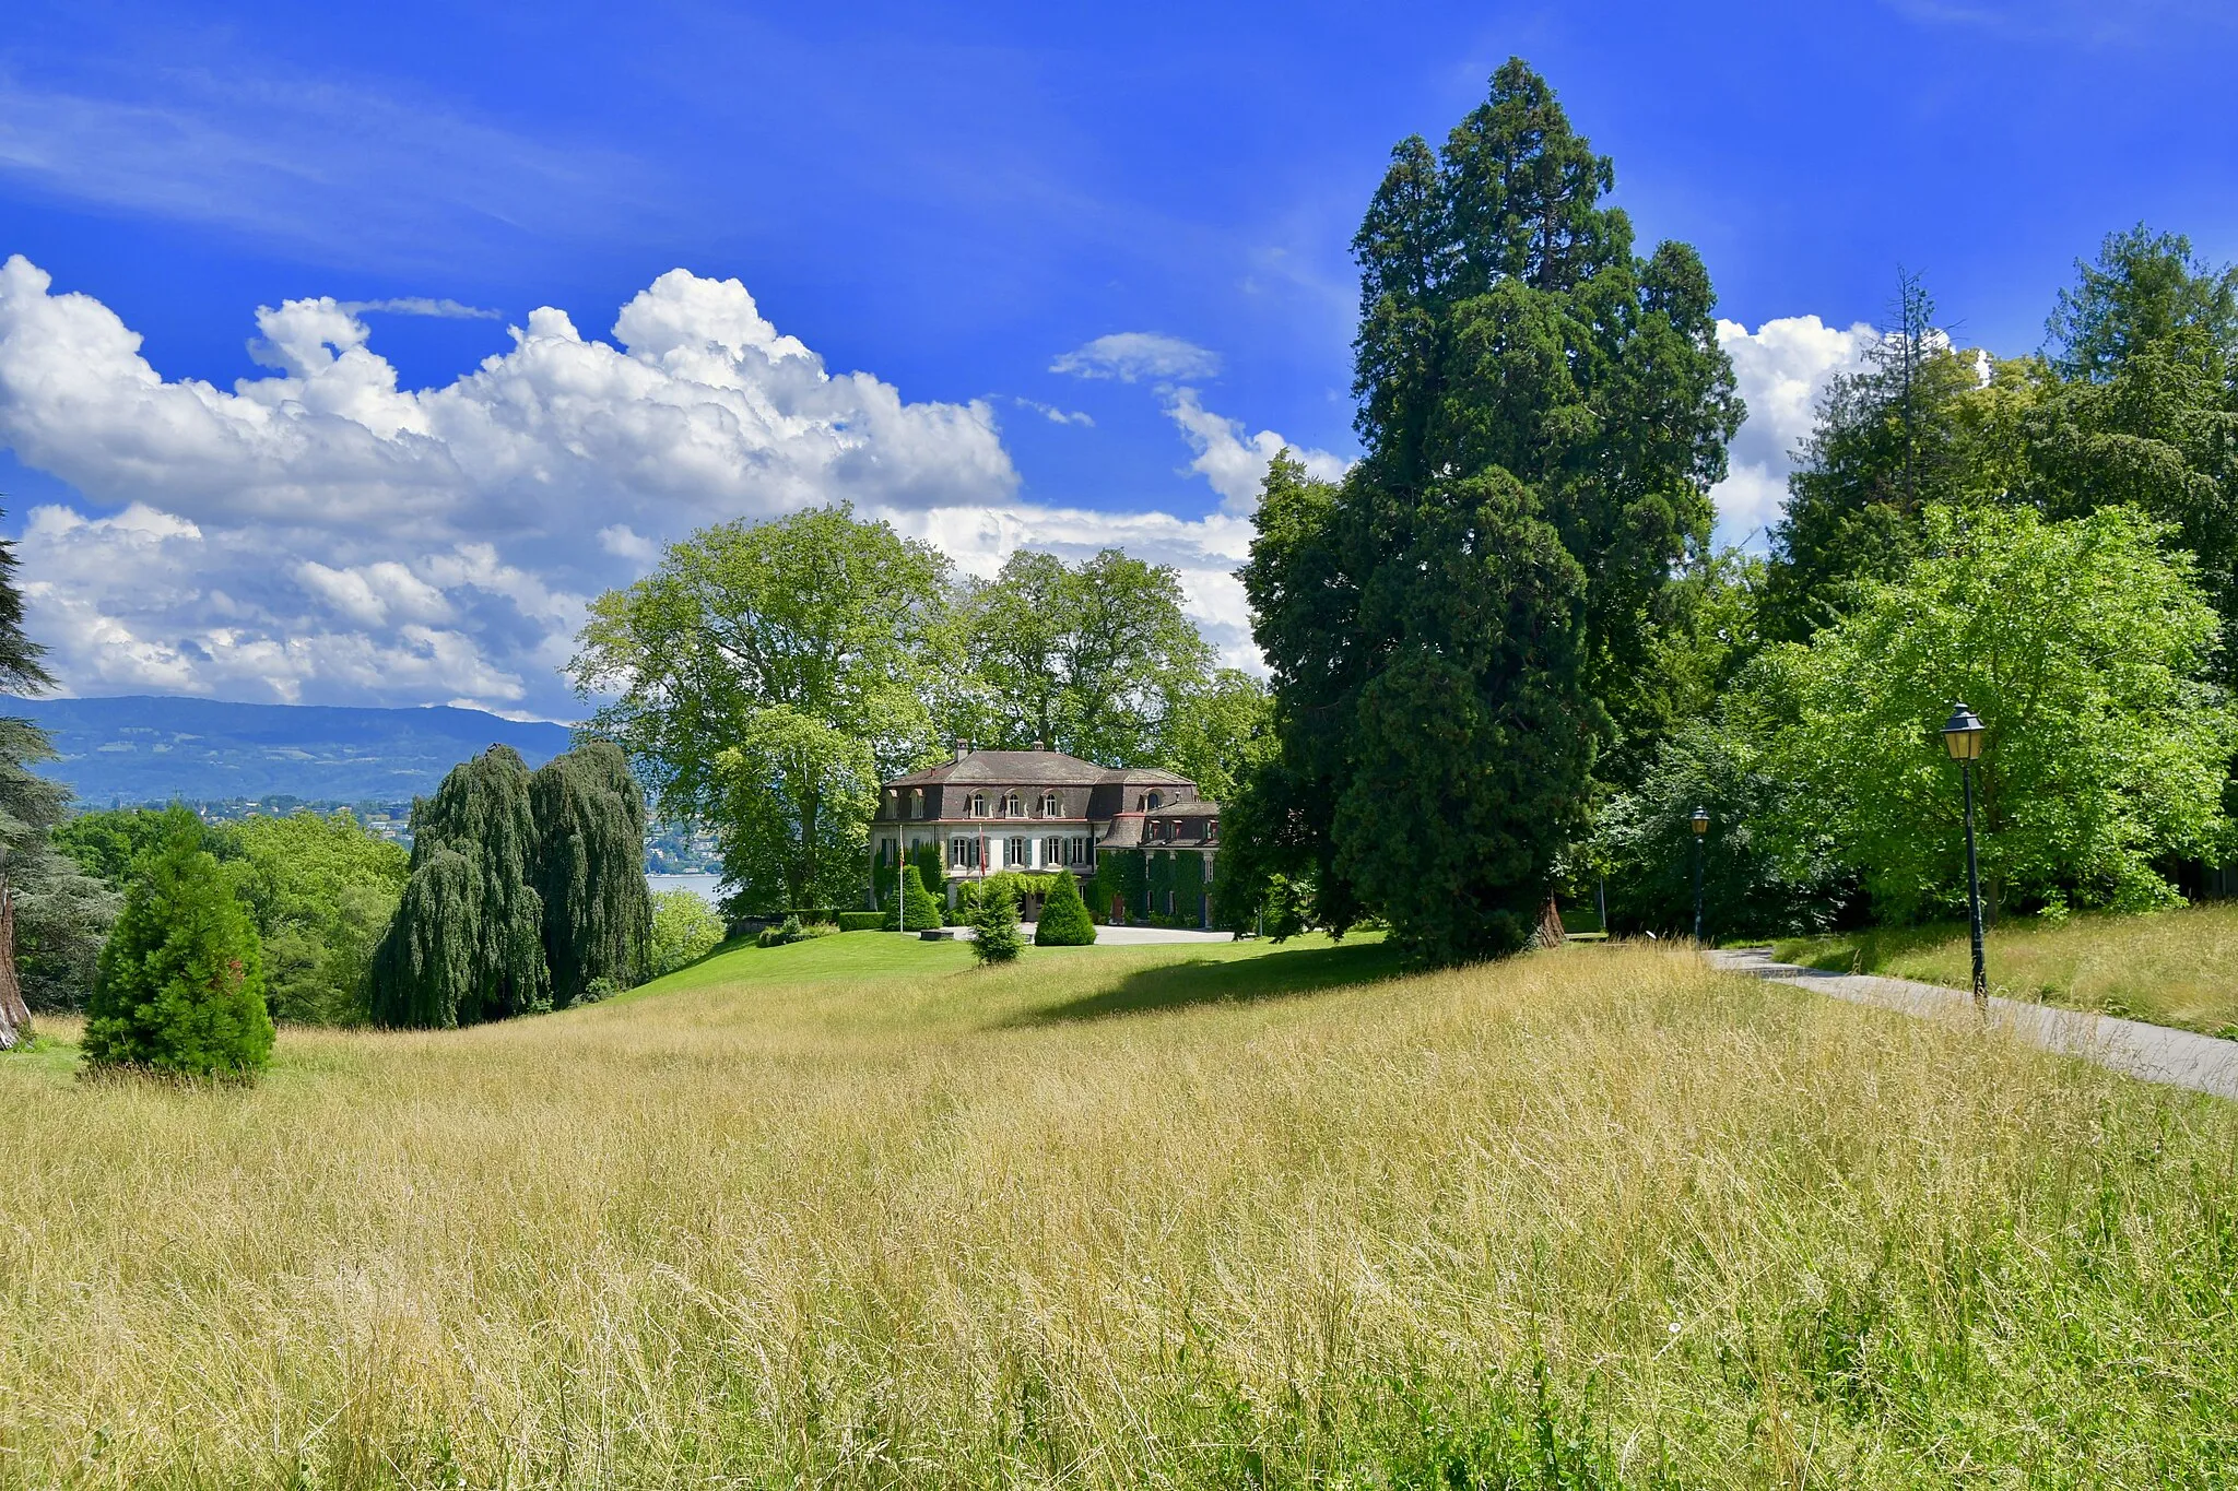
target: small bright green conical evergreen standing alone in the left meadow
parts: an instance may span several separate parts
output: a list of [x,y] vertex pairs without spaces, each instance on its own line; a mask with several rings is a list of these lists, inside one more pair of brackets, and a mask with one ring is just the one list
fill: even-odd
[[246,1082],[271,1053],[257,930],[201,849],[201,820],[175,809],[101,950],[85,1064]]

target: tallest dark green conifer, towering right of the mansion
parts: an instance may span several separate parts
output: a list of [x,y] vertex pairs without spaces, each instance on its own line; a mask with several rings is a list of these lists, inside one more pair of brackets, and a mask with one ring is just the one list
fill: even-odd
[[1522,60],[1394,150],[1354,239],[1367,454],[1278,460],[1242,572],[1280,751],[1231,854],[1430,961],[1522,946],[1596,749],[1623,776],[1665,726],[1643,662],[1741,418],[1701,259],[1636,257],[1611,186]]

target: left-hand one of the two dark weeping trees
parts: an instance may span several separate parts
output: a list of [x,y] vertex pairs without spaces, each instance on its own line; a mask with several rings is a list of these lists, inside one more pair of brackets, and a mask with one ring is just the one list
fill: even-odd
[[412,879],[374,952],[374,1022],[452,1028],[551,1008],[528,767],[513,747],[412,803]]

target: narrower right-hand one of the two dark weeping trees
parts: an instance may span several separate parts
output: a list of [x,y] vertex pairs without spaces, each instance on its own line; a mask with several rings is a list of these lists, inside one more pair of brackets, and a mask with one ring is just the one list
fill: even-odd
[[629,988],[645,977],[653,896],[645,883],[645,791],[606,740],[555,756],[528,778],[537,825],[537,896],[553,1006],[593,979]]

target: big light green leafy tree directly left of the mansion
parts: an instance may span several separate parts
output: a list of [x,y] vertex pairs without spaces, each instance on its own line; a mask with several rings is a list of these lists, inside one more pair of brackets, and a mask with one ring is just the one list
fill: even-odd
[[850,507],[725,523],[591,606],[577,691],[660,814],[716,825],[750,910],[859,894],[859,782],[931,749],[949,563]]

